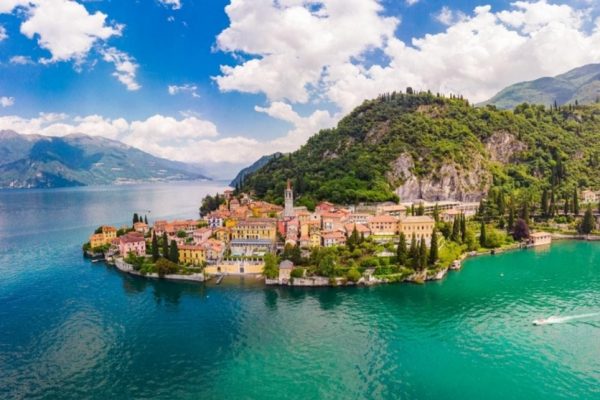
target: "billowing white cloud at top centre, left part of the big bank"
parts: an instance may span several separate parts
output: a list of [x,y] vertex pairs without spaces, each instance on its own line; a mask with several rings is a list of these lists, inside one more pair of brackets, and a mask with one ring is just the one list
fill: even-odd
[[219,88],[272,101],[307,102],[327,68],[383,46],[398,25],[377,0],[232,0],[225,11],[218,49],[252,58],[221,66]]

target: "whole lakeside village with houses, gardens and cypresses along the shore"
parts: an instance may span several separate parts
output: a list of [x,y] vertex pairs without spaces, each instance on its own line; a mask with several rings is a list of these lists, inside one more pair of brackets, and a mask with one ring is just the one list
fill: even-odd
[[[308,210],[294,207],[288,182],[284,207],[226,190],[203,200],[199,220],[157,220],[150,226],[147,217],[134,214],[132,226],[99,227],[83,250],[131,274],[174,280],[255,275],[272,285],[422,283],[459,269],[469,255],[589,235],[597,228],[591,204],[598,200],[595,192],[575,192],[572,206],[553,219],[544,218],[549,212],[544,196],[539,209],[519,211],[489,198],[321,202]],[[588,204],[583,217],[580,201]],[[546,231],[530,232],[530,225]]]

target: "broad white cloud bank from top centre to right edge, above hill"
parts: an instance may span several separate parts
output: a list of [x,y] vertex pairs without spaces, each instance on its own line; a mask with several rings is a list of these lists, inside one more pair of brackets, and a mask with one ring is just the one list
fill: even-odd
[[[221,67],[220,90],[328,101],[345,113],[407,86],[482,101],[515,82],[600,62],[600,19],[566,4],[516,1],[504,11],[481,6],[469,15],[442,9],[444,32],[407,43],[378,1],[350,3],[233,0],[217,46],[240,61]],[[373,63],[373,50],[384,61]]]

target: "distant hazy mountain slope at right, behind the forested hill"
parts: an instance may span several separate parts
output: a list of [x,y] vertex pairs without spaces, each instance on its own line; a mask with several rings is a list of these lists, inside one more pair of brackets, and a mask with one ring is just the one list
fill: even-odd
[[556,77],[546,77],[509,86],[480,105],[512,109],[521,103],[546,106],[590,104],[600,100],[600,64],[588,64]]

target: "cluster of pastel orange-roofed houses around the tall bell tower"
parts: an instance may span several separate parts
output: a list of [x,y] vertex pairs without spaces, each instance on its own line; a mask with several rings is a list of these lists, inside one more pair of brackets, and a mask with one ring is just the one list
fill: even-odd
[[[400,233],[430,244],[438,213],[442,221],[460,215],[475,215],[478,203],[443,201],[438,203],[380,203],[375,205],[336,206],[319,203],[314,211],[294,207],[290,183],[285,189],[284,207],[253,200],[242,194],[224,192],[225,202],[200,220],[157,220],[153,226],[137,222],[133,230],[118,236],[113,227],[103,226],[90,237],[92,248],[110,244],[113,252],[146,254],[146,242],[152,235],[175,241],[179,262],[204,266],[207,273],[260,273],[262,257],[284,245],[303,249],[346,244],[354,231],[384,243]],[[415,208],[420,210],[415,216]]]

